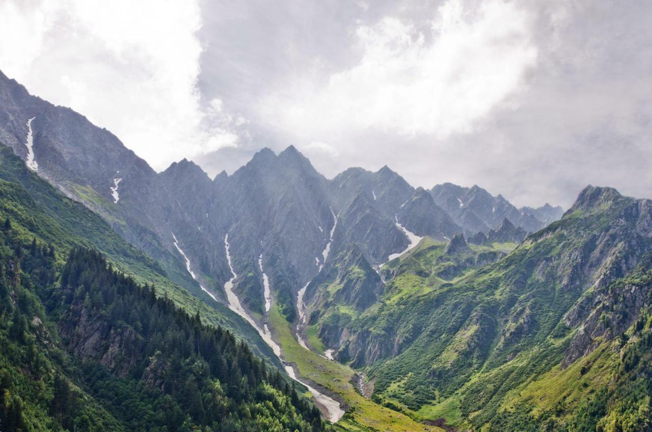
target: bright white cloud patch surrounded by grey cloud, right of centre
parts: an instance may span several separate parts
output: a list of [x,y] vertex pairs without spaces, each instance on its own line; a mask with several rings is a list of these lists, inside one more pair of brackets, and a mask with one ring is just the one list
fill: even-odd
[[518,91],[535,64],[529,16],[503,0],[472,11],[449,0],[433,13],[425,29],[391,16],[358,27],[363,54],[357,65],[268,97],[261,117],[306,142],[327,140],[333,131],[439,139],[471,131]]

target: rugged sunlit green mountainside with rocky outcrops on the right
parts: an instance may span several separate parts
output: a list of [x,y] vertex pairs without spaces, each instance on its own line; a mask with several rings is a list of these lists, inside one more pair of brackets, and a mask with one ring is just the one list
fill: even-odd
[[366,368],[374,400],[419,420],[615,431],[629,416],[639,428],[625,430],[645,430],[652,202],[587,187],[498,260],[511,247],[424,239],[381,269],[378,303],[338,329],[338,359]]

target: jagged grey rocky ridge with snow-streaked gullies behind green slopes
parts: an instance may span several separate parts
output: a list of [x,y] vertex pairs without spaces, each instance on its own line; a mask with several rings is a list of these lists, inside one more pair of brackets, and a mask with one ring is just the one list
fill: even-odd
[[[29,95],[1,74],[0,119],[4,144],[25,161],[32,151],[39,175],[102,215],[191,292],[199,293],[199,285],[177,246],[199,283],[224,301],[222,286],[231,277],[224,247],[228,234],[239,276],[235,290],[244,305],[262,310],[261,258],[273,296],[289,320],[295,316],[297,290],[351,245],[372,266],[403,251],[409,241],[397,219],[419,236],[445,240],[469,226],[477,227],[473,232],[496,228],[498,216],[487,216],[490,205],[497,203],[497,214],[507,211],[503,207],[512,211],[506,200],[484,189],[449,184],[433,193],[447,202],[438,205],[439,198],[415,191],[387,166],[377,172],[350,168],[327,180],[292,146],[278,155],[262,149],[231,176],[225,172],[209,179],[186,160],[157,174],[110,132]],[[33,146],[28,149],[30,128]],[[459,206],[458,197],[466,207]],[[549,208],[537,211],[528,214],[553,217]]]

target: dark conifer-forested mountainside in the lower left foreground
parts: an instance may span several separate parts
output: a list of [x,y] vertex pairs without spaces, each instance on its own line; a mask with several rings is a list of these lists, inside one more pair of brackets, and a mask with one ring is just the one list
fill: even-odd
[[[0,229],[3,430],[320,431],[319,410],[233,335],[95,251]],[[61,274],[58,278],[56,275]]]

